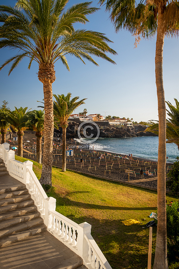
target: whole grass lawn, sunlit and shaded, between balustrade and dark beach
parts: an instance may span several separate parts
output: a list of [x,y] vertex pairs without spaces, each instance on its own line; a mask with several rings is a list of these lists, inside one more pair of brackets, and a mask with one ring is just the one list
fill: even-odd
[[[16,160],[27,159],[16,156]],[[39,179],[42,165],[33,163]],[[156,192],[72,171],[64,173],[55,167],[52,183],[47,195],[57,199],[56,211],[76,223],[86,221],[92,225],[91,234],[113,269],[147,268],[149,228],[145,224],[152,220],[148,217],[150,213],[156,212]],[[177,201],[170,195],[166,199]],[[142,224],[125,226],[121,223],[125,219],[138,219]],[[155,240],[153,227],[152,262]]]

